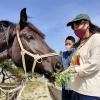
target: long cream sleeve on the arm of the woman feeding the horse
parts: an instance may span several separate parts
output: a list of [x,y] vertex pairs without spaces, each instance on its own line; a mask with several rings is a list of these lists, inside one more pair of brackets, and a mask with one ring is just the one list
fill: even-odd
[[88,76],[100,70],[100,34],[94,34],[90,41],[90,58],[85,64],[75,66],[75,70],[80,77]]

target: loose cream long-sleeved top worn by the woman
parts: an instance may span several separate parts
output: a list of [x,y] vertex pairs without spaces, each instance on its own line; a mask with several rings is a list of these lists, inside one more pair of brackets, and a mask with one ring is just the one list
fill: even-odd
[[80,94],[100,97],[100,34],[94,34],[76,52],[79,65],[70,88]]

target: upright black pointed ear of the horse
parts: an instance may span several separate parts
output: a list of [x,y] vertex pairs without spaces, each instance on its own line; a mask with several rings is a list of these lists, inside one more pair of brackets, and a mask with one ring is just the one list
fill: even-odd
[[22,30],[27,23],[27,14],[26,14],[26,8],[23,8],[20,12],[20,21],[19,21],[19,25],[20,25],[20,30]]

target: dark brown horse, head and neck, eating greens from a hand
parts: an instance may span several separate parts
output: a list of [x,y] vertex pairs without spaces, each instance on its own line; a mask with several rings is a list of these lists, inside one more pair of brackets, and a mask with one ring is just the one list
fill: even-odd
[[[24,8],[20,12],[19,24],[0,21],[0,61],[12,59],[16,66],[23,67],[21,49],[16,36],[17,31],[24,49],[32,54],[43,55],[55,52],[44,41],[45,35],[34,25],[27,22],[26,8]],[[33,57],[25,54],[27,72],[32,70],[33,61]],[[62,69],[62,66],[55,67],[57,62],[60,63],[58,56],[43,58],[42,63],[36,63],[35,72],[50,78],[57,67]]]

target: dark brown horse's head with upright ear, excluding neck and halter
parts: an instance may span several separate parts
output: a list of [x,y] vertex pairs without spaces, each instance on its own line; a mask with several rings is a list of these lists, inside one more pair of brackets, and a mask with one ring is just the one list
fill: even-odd
[[[27,22],[27,14],[25,8],[20,13],[20,22],[14,30],[13,34],[17,34],[17,31],[24,49],[29,51],[30,53],[34,55],[44,55],[55,52],[44,41],[45,35],[34,25]],[[21,49],[18,43],[17,36],[14,37],[11,51],[11,57],[14,63],[19,67],[23,67]],[[41,59],[39,59],[38,62],[40,60]],[[27,71],[31,71],[32,65],[34,63],[34,57],[25,54],[25,62]],[[62,66],[57,65],[57,63],[60,63],[59,56],[45,57],[42,58],[41,63],[38,62],[35,66],[35,72],[45,74],[47,77],[52,75],[52,73],[56,71],[56,69],[62,69]]]

